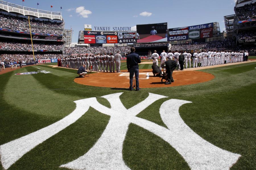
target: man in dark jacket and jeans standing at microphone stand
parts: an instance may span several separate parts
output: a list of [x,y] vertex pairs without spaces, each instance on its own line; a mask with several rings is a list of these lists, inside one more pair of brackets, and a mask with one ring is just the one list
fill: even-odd
[[129,90],[133,90],[133,75],[135,74],[136,80],[136,91],[139,91],[139,65],[141,63],[141,58],[139,54],[135,53],[135,48],[131,47],[131,53],[127,56],[126,65],[127,69],[130,72],[130,87]]

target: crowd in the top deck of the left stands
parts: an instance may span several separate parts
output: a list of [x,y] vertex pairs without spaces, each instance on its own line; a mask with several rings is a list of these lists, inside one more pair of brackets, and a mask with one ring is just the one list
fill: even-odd
[[[0,27],[17,31],[30,31],[27,16],[14,16],[7,12],[0,13]],[[31,32],[62,34],[64,22],[41,18],[30,18]]]

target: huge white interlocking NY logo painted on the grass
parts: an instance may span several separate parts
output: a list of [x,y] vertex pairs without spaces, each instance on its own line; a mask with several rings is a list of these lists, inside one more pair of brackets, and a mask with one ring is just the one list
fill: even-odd
[[160,107],[161,118],[168,127],[164,128],[148,120],[138,118],[136,115],[151,103],[165,98],[165,96],[149,93],[144,101],[126,109],[119,98],[121,94],[102,96],[110,102],[111,108],[98,103],[96,97],[77,100],[75,101],[76,109],[65,118],[1,145],[0,155],[3,167],[8,169],[35,146],[73,124],[88,111],[89,107],[111,116],[108,125],[95,145],[86,154],[60,167],[88,170],[130,170],[122,157],[123,141],[130,123],[136,124],[168,142],[181,154],[191,169],[229,169],[241,156],[222,150],[205,141],[183,122],[179,116],[179,107],[191,102],[177,99],[165,101]]

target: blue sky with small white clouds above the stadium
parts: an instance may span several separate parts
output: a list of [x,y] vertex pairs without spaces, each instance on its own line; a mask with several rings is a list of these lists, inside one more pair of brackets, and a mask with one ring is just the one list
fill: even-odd
[[[65,29],[74,30],[73,42],[84,24],[106,27],[133,27],[137,24],[168,22],[168,28],[219,22],[225,30],[225,15],[234,14],[236,0],[25,0],[24,6],[60,11]],[[22,0],[8,0],[22,5]]]

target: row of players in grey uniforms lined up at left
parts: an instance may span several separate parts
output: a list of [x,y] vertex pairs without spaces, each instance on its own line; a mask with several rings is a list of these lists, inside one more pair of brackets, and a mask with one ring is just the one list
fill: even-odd
[[[121,54],[117,52],[115,56],[112,53],[104,53],[104,55],[98,53],[98,55],[89,56],[70,56],[61,58],[61,67],[69,67],[72,69],[78,69],[82,65],[85,65],[86,70],[92,71],[101,71],[101,72],[110,72],[110,73],[120,73],[120,66],[121,66]],[[59,65],[59,64],[58,64]],[[116,65],[116,70],[115,70]]]

